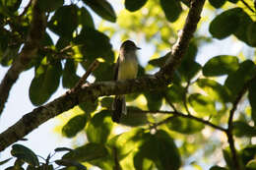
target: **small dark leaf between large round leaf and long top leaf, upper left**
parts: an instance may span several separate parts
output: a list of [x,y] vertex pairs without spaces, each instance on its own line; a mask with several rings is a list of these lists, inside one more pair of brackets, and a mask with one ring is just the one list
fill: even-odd
[[81,24],[84,27],[90,27],[90,28],[95,28],[95,23],[94,19],[91,16],[90,12],[85,8],[81,8],[78,11],[78,19],[79,19],[79,24]]

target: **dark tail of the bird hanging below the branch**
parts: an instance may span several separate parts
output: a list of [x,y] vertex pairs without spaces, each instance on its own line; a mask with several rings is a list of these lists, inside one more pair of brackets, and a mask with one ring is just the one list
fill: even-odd
[[124,95],[116,95],[113,102],[112,121],[119,123],[121,116],[126,114],[126,104]]

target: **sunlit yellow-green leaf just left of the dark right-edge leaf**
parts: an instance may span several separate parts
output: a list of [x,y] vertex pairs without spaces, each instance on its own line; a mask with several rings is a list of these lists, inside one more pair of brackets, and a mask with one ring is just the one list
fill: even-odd
[[199,79],[197,85],[203,88],[213,100],[230,101],[230,93],[227,88],[214,80]]

